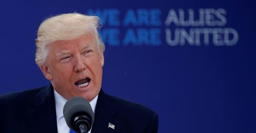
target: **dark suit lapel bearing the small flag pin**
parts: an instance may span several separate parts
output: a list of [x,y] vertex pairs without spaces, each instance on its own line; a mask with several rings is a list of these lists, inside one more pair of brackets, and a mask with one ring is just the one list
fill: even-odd
[[118,132],[122,121],[115,118],[117,107],[116,101],[101,90],[95,108],[95,120],[91,133]]

